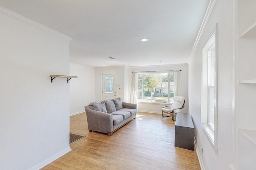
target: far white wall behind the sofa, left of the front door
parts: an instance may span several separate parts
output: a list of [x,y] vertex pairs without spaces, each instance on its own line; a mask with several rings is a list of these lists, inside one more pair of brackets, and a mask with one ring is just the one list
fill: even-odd
[[84,106],[94,102],[95,68],[70,63],[70,115],[84,112]]

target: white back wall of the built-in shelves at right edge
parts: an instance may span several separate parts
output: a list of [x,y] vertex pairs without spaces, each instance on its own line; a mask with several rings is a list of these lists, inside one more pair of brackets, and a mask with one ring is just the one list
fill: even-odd
[[[256,23],[256,0],[237,1],[237,33],[241,35]],[[236,75],[238,80],[256,80],[256,27],[237,39]],[[256,169],[256,83],[236,86],[236,167]],[[243,131],[243,133],[242,133]],[[248,133],[249,131],[249,133]],[[245,133],[246,132],[246,133]],[[254,134],[254,135],[253,135]],[[248,135],[248,136],[246,136]],[[250,137],[254,140],[249,140]],[[254,141],[254,142],[252,142]]]

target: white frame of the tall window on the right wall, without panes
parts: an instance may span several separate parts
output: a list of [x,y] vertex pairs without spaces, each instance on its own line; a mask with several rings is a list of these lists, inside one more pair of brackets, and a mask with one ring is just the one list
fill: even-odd
[[[216,29],[212,36],[210,37],[209,41],[206,43],[204,48],[202,49],[202,93],[201,93],[201,123],[202,129],[212,145],[215,153],[217,154],[217,121],[218,121],[218,24],[216,24]],[[210,84],[208,78],[210,77],[209,74],[209,63],[208,63],[208,51],[214,46],[214,84]],[[208,100],[209,100],[209,89],[214,89],[214,127],[209,125],[208,122]]]

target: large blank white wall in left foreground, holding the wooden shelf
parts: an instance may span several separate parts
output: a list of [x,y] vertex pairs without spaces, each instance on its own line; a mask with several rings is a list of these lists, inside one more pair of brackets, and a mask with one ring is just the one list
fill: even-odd
[[2,13],[0,23],[0,169],[38,169],[70,151],[69,84],[50,82],[69,74],[69,42]]

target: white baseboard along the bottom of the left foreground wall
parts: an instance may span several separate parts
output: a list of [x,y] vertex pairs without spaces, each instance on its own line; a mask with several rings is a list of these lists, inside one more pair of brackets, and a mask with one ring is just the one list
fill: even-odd
[[67,147],[66,149],[52,155],[50,158],[44,160],[43,162],[40,162],[39,164],[33,166],[32,168],[29,168],[29,170],[39,170],[41,168],[43,168],[44,166],[50,164],[51,162],[53,162],[54,160],[60,158],[60,156],[63,156],[64,154],[68,153],[71,151],[70,147]]

